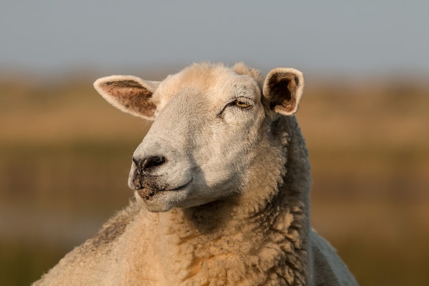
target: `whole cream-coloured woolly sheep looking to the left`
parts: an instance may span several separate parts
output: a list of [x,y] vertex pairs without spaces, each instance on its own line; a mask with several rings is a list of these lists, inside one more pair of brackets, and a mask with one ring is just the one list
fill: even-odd
[[154,121],[132,156],[135,198],[34,286],[357,285],[310,227],[300,71],[200,63],[94,86]]

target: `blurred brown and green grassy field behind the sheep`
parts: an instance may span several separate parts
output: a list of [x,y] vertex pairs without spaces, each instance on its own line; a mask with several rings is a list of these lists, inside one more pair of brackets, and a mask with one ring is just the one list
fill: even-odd
[[[29,285],[132,197],[149,124],[83,78],[0,78],[1,285]],[[297,117],[313,226],[361,285],[429,285],[429,87],[310,80]]]

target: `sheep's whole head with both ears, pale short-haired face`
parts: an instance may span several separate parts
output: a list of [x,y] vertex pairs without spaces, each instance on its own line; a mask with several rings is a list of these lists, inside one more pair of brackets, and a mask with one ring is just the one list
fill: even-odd
[[274,69],[262,82],[243,64],[194,64],[162,82],[132,76],[95,82],[114,106],[154,120],[128,180],[149,211],[239,195],[254,158],[272,144],[271,123],[297,110],[303,86],[295,69]]

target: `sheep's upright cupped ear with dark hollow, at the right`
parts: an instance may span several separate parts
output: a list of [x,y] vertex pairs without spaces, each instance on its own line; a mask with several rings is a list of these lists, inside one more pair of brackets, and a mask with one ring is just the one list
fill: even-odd
[[269,110],[281,115],[293,115],[298,110],[304,91],[304,75],[291,68],[272,69],[262,88],[263,101]]

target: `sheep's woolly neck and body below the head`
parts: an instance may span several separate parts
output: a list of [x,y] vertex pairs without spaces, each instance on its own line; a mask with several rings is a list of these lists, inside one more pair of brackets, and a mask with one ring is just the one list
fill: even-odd
[[295,117],[279,117],[265,136],[240,195],[164,213],[136,196],[34,286],[357,285],[310,228],[310,165]]

